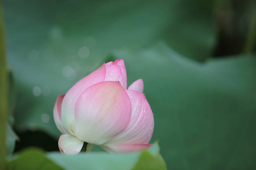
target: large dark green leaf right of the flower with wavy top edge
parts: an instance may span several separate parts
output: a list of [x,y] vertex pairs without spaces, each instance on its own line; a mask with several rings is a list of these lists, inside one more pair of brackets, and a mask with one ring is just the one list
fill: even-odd
[[126,48],[128,84],[142,78],[169,169],[256,166],[256,56],[199,63],[168,45]]

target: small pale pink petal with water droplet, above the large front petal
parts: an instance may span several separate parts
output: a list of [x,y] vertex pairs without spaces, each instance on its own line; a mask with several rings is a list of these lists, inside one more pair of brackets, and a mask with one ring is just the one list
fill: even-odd
[[118,65],[106,65],[105,81],[120,82],[123,88],[125,88],[125,79]]

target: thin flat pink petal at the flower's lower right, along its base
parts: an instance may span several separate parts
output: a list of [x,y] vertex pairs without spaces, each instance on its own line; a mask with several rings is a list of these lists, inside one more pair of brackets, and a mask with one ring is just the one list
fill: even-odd
[[137,152],[151,147],[151,144],[114,144],[114,145],[101,145],[104,150],[115,152]]

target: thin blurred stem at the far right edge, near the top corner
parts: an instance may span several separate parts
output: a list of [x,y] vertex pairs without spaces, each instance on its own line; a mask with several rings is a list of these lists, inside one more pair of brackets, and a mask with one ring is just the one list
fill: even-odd
[[256,7],[253,12],[253,16],[251,17],[250,30],[248,32],[247,40],[245,42],[245,49],[243,50],[245,54],[250,54],[253,52],[255,39],[256,39]]

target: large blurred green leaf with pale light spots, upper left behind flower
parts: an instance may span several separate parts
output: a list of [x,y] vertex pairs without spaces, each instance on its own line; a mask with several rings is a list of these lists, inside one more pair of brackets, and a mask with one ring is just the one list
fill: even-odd
[[214,45],[211,4],[199,0],[3,1],[9,64],[18,94],[15,128],[59,137],[52,116],[57,95],[96,70],[113,49],[164,39],[180,53],[204,61]]

